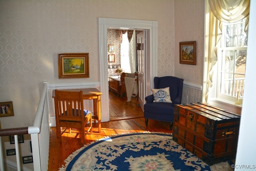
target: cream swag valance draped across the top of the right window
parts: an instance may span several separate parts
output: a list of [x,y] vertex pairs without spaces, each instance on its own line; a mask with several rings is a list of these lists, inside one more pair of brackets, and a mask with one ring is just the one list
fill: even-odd
[[237,22],[249,15],[250,0],[208,0],[208,3],[222,22]]

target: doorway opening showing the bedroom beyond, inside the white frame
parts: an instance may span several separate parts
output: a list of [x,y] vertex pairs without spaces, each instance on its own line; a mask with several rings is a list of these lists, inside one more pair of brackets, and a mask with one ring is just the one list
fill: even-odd
[[[146,30],[123,29],[108,29],[107,31],[110,121],[143,116],[143,106],[140,108],[138,100],[141,93],[138,90],[144,91],[145,83],[142,83],[143,87],[138,88],[138,72],[141,77],[146,75],[142,75],[146,67],[145,57],[138,57],[146,54],[142,53],[145,48],[141,48],[142,45],[146,46],[145,43],[141,43],[142,39],[144,42],[145,32]],[[140,37],[138,38],[138,36]],[[121,78],[119,71],[125,73],[122,76],[134,77],[135,80]],[[144,81],[145,79],[140,80]],[[135,93],[126,93],[127,88],[128,90],[132,89]]]

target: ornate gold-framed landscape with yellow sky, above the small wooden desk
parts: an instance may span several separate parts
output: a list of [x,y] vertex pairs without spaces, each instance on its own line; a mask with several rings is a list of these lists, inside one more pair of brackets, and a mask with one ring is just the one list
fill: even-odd
[[58,54],[59,79],[89,78],[89,53]]

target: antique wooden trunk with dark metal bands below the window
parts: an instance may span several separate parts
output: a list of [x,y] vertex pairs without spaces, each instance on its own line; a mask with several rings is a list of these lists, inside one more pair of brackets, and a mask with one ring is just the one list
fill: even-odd
[[175,105],[173,140],[209,165],[234,159],[240,115],[208,105]]

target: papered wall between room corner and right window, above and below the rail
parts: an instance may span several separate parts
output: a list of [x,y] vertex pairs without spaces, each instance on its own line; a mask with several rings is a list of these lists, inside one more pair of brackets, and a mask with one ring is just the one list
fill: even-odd
[[[202,85],[204,65],[204,0],[175,0],[175,72],[185,82]],[[196,41],[196,65],[180,64],[179,42]],[[182,103],[202,101],[202,91],[184,86]]]

